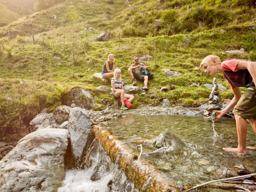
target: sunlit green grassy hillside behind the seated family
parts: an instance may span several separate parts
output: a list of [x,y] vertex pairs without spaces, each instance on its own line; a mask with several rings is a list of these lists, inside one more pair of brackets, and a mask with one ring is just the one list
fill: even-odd
[[[244,0],[241,5],[237,0],[74,0],[11,23],[10,42],[7,27],[0,28],[0,129],[13,133],[20,130],[17,128],[26,128],[41,109],[53,110],[61,104],[65,90],[75,86],[91,92],[97,102],[95,110],[106,108],[106,101],[112,103],[112,97],[96,91],[96,87],[110,87],[110,83],[103,84],[92,75],[101,72],[109,53],[115,54],[116,67],[122,69],[128,85],[132,84],[127,69],[133,56],[153,56],[145,62],[155,77],[149,81],[147,94],[135,97],[135,107],[160,105],[164,98],[186,107],[207,102],[210,90],[203,84],[212,83],[213,78],[197,68],[206,55],[214,53],[222,60],[256,60],[256,13],[250,2]],[[52,18],[53,14],[57,19]],[[107,14],[111,18],[103,19]],[[88,40],[85,27],[95,30],[88,32]],[[32,30],[34,44],[28,43]],[[111,33],[111,41],[91,42],[104,31]],[[120,49],[124,46],[128,48]],[[245,53],[226,53],[240,48]],[[168,78],[163,69],[173,69],[181,75]],[[215,77],[228,88],[220,91],[222,98],[232,98],[223,76]],[[160,92],[162,86],[171,84],[175,90]],[[150,94],[156,96],[152,98]]]

